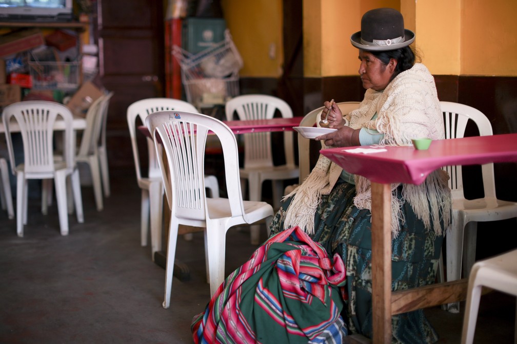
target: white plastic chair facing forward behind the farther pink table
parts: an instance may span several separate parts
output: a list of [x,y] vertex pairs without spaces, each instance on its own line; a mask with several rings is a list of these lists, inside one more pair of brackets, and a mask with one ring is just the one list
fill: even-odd
[[[239,95],[226,102],[226,120],[234,118],[237,112],[239,120],[271,119],[279,111],[283,118],[292,118],[291,107],[275,96],[262,94]],[[248,180],[250,201],[262,200],[262,183],[271,181],[273,189],[273,205],[280,207],[280,199],[284,191],[283,181],[299,177],[299,168],[294,161],[293,132],[284,132],[285,164],[275,166],[271,149],[271,133],[244,134],[244,167],[240,169],[242,189],[246,190],[245,179]],[[251,243],[259,242],[258,228],[251,228]]]

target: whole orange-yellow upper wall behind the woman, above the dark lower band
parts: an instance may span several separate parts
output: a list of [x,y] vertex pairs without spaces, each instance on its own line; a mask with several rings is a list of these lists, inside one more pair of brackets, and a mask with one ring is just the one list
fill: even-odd
[[[356,75],[349,37],[364,12],[400,9],[416,32],[422,62],[435,75],[517,75],[515,0],[302,0],[306,77]],[[282,0],[221,0],[244,59],[241,76],[282,73]]]

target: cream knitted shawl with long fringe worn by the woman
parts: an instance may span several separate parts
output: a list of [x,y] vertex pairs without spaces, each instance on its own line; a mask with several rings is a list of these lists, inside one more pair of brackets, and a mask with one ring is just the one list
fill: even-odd
[[[375,113],[377,118],[371,120]],[[397,75],[382,92],[368,89],[359,108],[344,116],[354,129],[366,127],[384,133],[380,145],[410,145],[411,139],[416,137],[429,137],[433,140],[445,137],[434,78],[421,63],[416,63],[413,68]],[[322,145],[323,148],[328,148],[323,143]],[[323,194],[330,193],[341,171],[341,167],[336,163],[320,155],[316,166],[305,181],[284,196],[286,199],[294,195],[286,210],[284,229],[300,226],[306,233],[314,233],[314,214],[317,205]],[[399,220],[404,222],[401,211],[404,201],[412,205],[416,216],[423,221],[428,230],[432,217],[434,232],[437,235],[442,234],[440,212],[445,229],[449,227],[451,198],[447,180],[447,173],[439,169],[432,172],[421,185],[404,184],[402,201],[392,196],[393,237],[400,231]],[[371,210],[370,182],[367,178],[356,175],[355,184],[355,206]],[[398,186],[399,184],[391,185],[392,192]]]

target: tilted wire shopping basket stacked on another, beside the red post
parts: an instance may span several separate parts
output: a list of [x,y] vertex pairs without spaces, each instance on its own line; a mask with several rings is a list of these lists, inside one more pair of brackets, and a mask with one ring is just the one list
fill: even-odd
[[240,57],[230,31],[224,40],[197,54],[174,45],[172,54],[181,68],[181,81],[187,101],[197,108],[202,105],[224,104],[239,94]]

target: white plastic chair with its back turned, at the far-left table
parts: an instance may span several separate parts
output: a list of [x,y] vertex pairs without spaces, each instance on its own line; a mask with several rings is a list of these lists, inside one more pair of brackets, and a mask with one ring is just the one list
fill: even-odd
[[[27,180],[54,179],[61,235],[68,235],[68,209],[66,179],[72,183],[75,213],[78,222],[84,222],[79,171],[74,161],[72,112],[64,105],[46,101],[27,101],[4,108],[3,121],[6,130],[7,149],[11,170],[17,176],[16,212],[17,234],[23,236],[27,223]],[[11,140],[11,118],[18,122],[23,141],[24,161],[14,160]],[[54,159],[54,123],[62,118],[65,123],[64,158]]]

